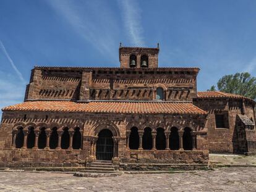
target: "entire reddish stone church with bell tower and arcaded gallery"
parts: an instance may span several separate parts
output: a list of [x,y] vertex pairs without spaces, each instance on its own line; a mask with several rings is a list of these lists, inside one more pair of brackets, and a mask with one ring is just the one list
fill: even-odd
[[131,170],[255,154],[255,101],[197,91],[200,69],[158,67],[159,51],[120,44],[120,67],[36,66],[24,102],[2,109],[1,167]]

